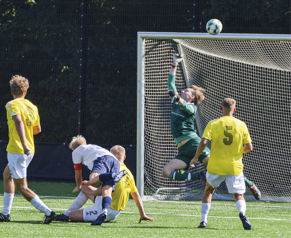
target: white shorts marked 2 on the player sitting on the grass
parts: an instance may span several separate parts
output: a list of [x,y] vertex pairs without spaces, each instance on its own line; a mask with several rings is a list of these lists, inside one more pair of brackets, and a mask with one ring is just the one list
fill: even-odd
[[[83,209],[83,219],[85,222],[95,221],[97,217],[101,214],[101,212],[102,212],[102,196],[97,196],[95,198],[95,203],[93,206]],[[116,217],[119,216],[120,213],[121,211],[109,208],[107,212],[107,218],[105,219],[104,222],[114,220]]]

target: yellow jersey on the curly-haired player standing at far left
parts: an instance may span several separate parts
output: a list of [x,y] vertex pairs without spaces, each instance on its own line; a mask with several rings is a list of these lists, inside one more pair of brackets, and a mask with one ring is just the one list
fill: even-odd
[[9,129],[9,142],[7,152],[13,154],[24,154],[20,137],[15,127],[13,116],[20,114],[24,124],[26,144],[34,153],[33,127],[40,124],[38,109],[29,100],[24,98],[14,99],[6,104],[7,124]]

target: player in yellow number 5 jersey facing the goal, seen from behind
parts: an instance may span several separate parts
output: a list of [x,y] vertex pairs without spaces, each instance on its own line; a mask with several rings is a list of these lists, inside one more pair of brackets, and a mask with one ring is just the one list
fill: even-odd
[[[252,140],[246,124],[233,117],[236,101],[225,98],[221,103],[223,116],[212,120],[206,126],[203,138],[198,145],[195,157],[190,166],[194,167],[199,155],[211,140],[210,157],[207,165],[206,188],[202,198],[201,222],[198,228],[206,228],[207,214],[210,210],[212,194],[223,181],[226,182],[228,192],[235,198],[235,205],[239,210],[239,218],[245,230],[251,230],[251,224],[246,218],[246,201],[244,193],[246,187],[243,179],[242,155],[253,149]],[[244,145],[244,146],[243,146]]]

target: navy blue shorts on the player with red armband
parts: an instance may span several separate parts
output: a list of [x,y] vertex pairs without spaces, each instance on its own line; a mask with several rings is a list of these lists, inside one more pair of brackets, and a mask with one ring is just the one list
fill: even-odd
[[[96,172],[99,174],[105,174],[105,173],[118,173],[120,170],[120,163],[117,159],[112,157],[111,155],[105,155],[102,157],[98,157],[95,159],[93,163],[93,168],[91,170],[92,172]],[[102,183],[102,187],[104,185],[115,185],[113,179],[111,179],[108,182]],[[113,187],[114,190],[114,187]]]

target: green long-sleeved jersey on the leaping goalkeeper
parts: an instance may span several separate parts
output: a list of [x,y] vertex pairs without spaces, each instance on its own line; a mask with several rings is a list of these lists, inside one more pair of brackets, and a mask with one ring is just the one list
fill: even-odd
[[[169,74],[168,89],[177,92],[175,87],[175,75]],[[196,134],[196,128],[194,127],[197,106],[185,101],[180,106],[174,98],[172,99],[172,102],[173,108],[171,112],[170,127],[175,143],[178,144],[181,140],[198,137]]]

